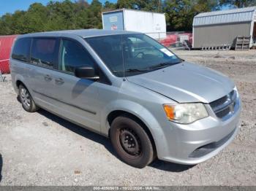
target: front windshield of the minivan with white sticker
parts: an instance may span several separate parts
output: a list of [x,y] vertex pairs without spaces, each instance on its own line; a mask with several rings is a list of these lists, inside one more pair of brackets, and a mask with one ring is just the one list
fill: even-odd
[[120,34],[86,38],[117,77],[142,74],[180,63],[173,52],[145,34]]

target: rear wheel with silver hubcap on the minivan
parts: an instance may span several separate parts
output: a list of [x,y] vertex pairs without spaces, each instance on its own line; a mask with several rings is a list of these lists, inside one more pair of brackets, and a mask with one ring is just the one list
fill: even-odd
[[29,93],[29,90],[23,85],[19,85],[19,100],[26,112],[37,112],[39,109],[39,107],[34,104],[34,100]]

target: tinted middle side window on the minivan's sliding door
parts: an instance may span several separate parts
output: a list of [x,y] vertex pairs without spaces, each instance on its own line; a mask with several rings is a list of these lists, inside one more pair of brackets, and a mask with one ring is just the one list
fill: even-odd
[[57,39],[35,38],[32,43],[31,63],[52,69],[58,59],[58,50]]

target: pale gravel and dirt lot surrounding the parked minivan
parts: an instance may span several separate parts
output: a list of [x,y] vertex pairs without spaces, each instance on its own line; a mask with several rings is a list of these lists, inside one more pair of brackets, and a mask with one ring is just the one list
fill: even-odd
[[195,166],[157,160],[132,168],[108,139],[43,110],[25,112],[7,75],[0,82],[0,185],[256,185],[256,51],[176,53],[238,86],[241,131],[219,155]]

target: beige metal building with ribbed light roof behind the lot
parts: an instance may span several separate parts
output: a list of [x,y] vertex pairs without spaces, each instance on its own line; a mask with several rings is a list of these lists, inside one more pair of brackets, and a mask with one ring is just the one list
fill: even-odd
[[236,46],[237,36],[249,36],[252,47],[256,39],[256,7],[204,12],[193,20],[193,48]]

